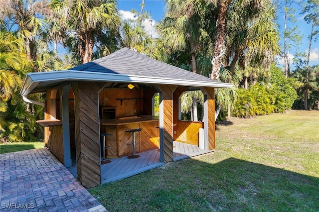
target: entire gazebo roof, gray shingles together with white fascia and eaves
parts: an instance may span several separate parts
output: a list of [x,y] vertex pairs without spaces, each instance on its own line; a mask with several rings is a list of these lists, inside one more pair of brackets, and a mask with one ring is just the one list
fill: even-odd
[[20,94],[45,92],[70,81],[170,84],[189,87],[231,88],[233,85],[194,74],[128,48],[66,71],[28,73]]

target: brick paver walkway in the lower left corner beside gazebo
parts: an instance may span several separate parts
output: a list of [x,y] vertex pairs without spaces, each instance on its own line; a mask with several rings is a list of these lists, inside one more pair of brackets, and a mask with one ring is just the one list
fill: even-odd
[[46,148],[0,154],[0,189],[0,211],[106,211]]

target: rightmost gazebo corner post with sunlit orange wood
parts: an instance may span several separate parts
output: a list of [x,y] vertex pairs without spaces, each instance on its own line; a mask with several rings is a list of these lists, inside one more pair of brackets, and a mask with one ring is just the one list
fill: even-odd
[[215,149],[215,89],[200,88],[204,94],[204,146],[205,150]]

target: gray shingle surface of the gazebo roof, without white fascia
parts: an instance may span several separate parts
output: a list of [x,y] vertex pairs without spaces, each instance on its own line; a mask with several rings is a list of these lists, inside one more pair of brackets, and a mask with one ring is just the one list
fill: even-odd
[[202,75],[194,74],[190,71],[152,59],[126,47],[114,52],[113,54],[71,68],[70,70],[175,80],[194,80],[212,83],[218,82]]

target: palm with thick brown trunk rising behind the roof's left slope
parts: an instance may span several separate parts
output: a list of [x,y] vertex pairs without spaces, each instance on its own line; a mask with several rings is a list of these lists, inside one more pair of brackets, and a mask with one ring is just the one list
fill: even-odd
[[120,25],[114,0],[52,0],[50,7],[60,19],[61,28],[76,38],[75,49],[82,63],[92,60],[98,35],[114,35]]

